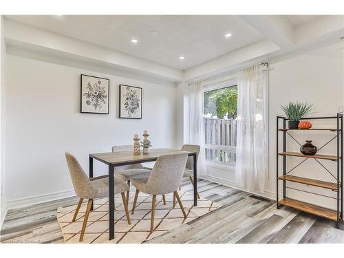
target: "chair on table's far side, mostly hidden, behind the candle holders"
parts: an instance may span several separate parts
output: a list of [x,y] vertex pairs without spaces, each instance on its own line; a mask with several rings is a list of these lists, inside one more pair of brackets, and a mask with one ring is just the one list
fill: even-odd
[[[113,146],[112,152],[133,151],[133,145]],[[129,204],[130,182],[133,178],[146,178],[151,174],[151,169],[145,168],[142,164],[131,164],[125,166],[116,166],[115,175],[120,180],[127,182],[129,189],[127,191],[127,204]]]

